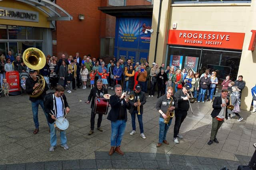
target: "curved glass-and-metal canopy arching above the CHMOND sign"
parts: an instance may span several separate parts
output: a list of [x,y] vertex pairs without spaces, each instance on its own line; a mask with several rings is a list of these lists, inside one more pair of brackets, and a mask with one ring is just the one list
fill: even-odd
[[73,17],[68,14],[63,8],[50,0],[16,0],[34,6],[38,10],[47,14],[48,21],[69,21]]

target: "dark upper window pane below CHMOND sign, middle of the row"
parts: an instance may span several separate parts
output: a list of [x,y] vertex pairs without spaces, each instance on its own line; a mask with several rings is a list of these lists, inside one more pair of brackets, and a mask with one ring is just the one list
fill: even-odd
[[26,27],[8,26],[9,39],[26,39]]

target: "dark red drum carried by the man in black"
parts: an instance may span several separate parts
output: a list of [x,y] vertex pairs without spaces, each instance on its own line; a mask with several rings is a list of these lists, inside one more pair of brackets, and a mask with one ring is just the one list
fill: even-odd
[[105,98],[95,98],[93,111],[106,115],[108,113],[108,100]]

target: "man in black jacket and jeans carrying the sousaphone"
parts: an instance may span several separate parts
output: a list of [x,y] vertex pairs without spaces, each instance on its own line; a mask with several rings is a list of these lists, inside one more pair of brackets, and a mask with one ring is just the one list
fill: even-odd
[[[36,76],[37,74],[38,74],[38,72],[36,70],[30,70],[30,77],[26,80],[26,93],[29,95],[32,95],[33,92],[39,93],[38,90],[35,90],[38,86],[40,86],[40,84],[38,83],[39,79]],[[33,132],[34,134],[37,134],[39,131],[38,106],[40,105],[44,111],[43,99],[44,99],[44,96],[46,95],[47,90],[48,90],[48,86],[47,86],[47,83],[45,82],[44,90],[43,90],[42,94],[40,94],[40,96],[38,96],[36,98],[29,97],[29,100],[31,101],[31,104],[32,104],[33,120],[34,120],[35,127],[36,127],[36,129]],[[46,113],[44,111],[44,114],[48,121],[48,113]],[[48,123],[48,125],[49,125],[49,123]],[[50,132],[50,129],[49,129],[49,132]]]

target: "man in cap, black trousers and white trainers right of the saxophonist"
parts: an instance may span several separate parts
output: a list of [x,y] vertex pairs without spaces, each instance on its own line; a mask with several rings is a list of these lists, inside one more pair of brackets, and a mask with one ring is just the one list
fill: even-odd
[[188,90],[190,90],[190,86],[188,84],[184,84],[183,88],[178,90],[174,97],[178,102],[178,107],[175,109],[175,125],[174,125],[174,134],[173,141],[174,143],[179,143],[179,139],[183,139],[182,135],[179,134],[181,123],[184,121],[188,114],[189,109],[189,96]]

